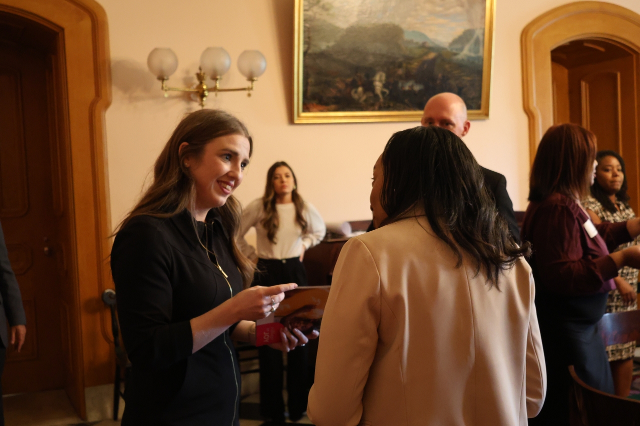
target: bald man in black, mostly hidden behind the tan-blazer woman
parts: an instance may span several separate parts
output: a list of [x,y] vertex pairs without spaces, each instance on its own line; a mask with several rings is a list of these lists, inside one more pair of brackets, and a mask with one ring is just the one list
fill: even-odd
[[[424,106],[421,123],[423,126],[438,126],[451,130],[459,138],[463,138],[471,127],[471,123],[467,120],[465,101],[455,93],[438,93],[431,97]],[[484,183],[493,195],[498,212],[506,219],[511,235],[519,244],[520,228],[513,213],[513,203],[507,193],[507,179],[504,175],[484,167],[482,171]]]

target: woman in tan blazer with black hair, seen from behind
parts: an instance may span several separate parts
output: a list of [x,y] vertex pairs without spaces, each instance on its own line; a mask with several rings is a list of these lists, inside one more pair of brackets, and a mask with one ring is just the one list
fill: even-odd
[[333,425],[526,425],[546,377],[531,268],[467,146],[397,132],[374,166],[376,230],[345,244],[308,416]]

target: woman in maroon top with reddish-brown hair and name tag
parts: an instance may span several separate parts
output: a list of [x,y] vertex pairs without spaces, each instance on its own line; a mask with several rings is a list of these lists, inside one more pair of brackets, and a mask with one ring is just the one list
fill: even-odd
[[593,225],[579,200],[589,194],[595,156],[593,133],[563,124],[547,130],[531,168],[522,240],[533,249],[529,263],[536,282],[547,397],[529,425],[569,424],[569,365],[590,386],[614,393],[597,323],[618,269],[640,265],[637,246],[609,253],[640,234],[640,219]]

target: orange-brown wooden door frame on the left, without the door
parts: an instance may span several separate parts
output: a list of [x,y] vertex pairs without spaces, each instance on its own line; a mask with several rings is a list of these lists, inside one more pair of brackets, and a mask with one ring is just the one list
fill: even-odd
[[[111,217],[104,113],[111,104],[107,17],[94,0],[0,0],[0,11],[38,22],[58,33],[56,99],[60,160],[68,187],[70,241],[68,301],[70,382],[65,390],[86,419],[85,388],[113,382],[108,311],[100,296],[111,287],[108,255]],[[55,72],[57,68],[57,73]],[[65,326],[63,324],[63,326]]]

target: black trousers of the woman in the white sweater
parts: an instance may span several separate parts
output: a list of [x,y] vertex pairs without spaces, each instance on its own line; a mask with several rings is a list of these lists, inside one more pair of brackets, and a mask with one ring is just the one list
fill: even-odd
[[[296,283],[307,286],[307,272],[298,258],[260,259],[253,285]],[[307,347],[296,347],[287,354],[287,407],[289,418],[297,419],[307,411],[308,367]],[[260,357],[260,414],[275,421],[284,420],[284,362],[281,351],[268,346],[258,348]]]

